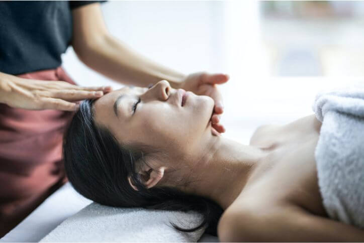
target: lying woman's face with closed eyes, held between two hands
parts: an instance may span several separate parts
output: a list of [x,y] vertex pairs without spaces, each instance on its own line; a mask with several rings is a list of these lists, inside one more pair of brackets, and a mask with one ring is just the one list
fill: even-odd
[[211,97],[173,89],[165,80],[149,89],[124,87],[94,103],[96,124],[120,144],[143,144],[175,156],[196,152],[211,136],[213,107]]

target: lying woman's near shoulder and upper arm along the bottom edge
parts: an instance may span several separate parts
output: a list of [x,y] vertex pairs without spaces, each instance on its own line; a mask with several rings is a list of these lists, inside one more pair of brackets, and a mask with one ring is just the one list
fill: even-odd
[[[250,209],[250,210],[248,210]],[[233,214],[235,212],[235,214]],[[292,203],[229,211],[218,225],[221,242],[363,242],[364,231],[308,213]]]

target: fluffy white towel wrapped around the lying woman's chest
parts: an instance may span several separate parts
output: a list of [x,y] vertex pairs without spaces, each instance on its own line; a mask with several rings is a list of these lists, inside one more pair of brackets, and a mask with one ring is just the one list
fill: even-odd
[[321,91],[312,108],[322,122],[315,159],[326,212],[364,228],[364,83]]

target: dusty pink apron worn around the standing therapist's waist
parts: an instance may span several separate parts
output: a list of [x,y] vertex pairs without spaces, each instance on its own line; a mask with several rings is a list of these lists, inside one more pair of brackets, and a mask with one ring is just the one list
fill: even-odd
[[[18,77],[75,84],[61,67]],[[0,104],[0,237],[67,181],[62,137],[73,114]]]

